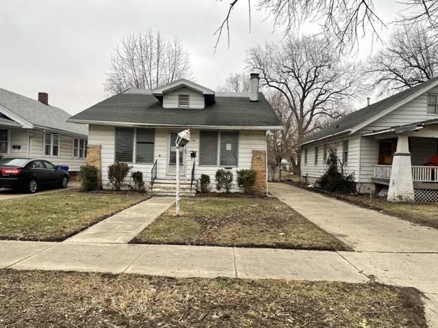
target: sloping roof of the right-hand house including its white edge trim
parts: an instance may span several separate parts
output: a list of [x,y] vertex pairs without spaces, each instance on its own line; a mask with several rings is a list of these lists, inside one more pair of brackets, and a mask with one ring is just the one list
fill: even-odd
[[335,135],[355,133],[361,130],[361,128],[372,124],[372,122],[382,118],[388,113],[391,113],[391,111],[398,109],[398,107],[415,99],[417,96],[420,96],[424,92],[427,92],[437,85],[438,77],[435,77],[434,79],[430,79],[426,82],[415,85],[415,87],[398,92],[398,94],[394,94],[393,96],[389,96],[378,102],[374,102],[374,104],[370,106],[353,111],[344,118],[333,122],[326,128],[323,128],[321,131],[311,135],[305,139],[305,141],[303,141],[302,145],[311,143],[313,141],[326,139],[328,137],[333,137]]

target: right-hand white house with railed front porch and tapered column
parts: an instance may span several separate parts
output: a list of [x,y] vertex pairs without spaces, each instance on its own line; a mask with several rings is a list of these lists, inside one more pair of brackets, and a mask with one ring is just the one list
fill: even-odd
[[359,192],[438,202],[438,78],[346,115],[302,143],[301,180],[323,173],[330,148]]

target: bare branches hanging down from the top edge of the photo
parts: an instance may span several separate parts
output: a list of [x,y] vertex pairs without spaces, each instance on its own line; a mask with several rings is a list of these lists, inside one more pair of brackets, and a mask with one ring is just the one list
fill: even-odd
[[[285,29],[285,34],[297,31],[305,23],[318,25],[319,35],[335,43],[337,50],[351,50],[361,36],[371,34],[372,40],[381,40],[379,31],[389,23],[411,25],[424,23],[429,29],[438,28],[437,0],[404,0],[394,1],[402,4],[399,12],[394,12],[394,18],[384,22],[374,9],[376,0],[259,0],[253,1],[258,10],[265,10],[272,18],[274,27]],[[248,13],[252,3],[248,1],[231,1],[222,23],[215,32],[216,51],[224,29],[229,39],[229,20],[233,8],[238,3],[248,5]],[[251,22],[249,18],[249,22]],[[229,43],[229,40],[228,40]]]

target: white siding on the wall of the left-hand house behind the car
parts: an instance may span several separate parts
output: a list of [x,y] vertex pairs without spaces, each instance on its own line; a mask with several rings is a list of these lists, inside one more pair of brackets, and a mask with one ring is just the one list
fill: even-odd
[[[43,153],[42,131],[26,130],[23,128],[12,128],[10,130],[11,145],[8,156],[29,157],[34,159],[47,159],[55,165],[67,165],[70,172],[77,172],[85,159],[73,158],[73,137],[60,135],[60,155],[45,156]],[[30,137],[30,152],[28,150],[28,140]],[[12,150],[12,146],[21,146],[19,151]]]

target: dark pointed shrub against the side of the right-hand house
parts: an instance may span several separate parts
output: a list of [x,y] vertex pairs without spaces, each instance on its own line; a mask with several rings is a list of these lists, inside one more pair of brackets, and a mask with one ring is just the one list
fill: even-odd
[[[340,171],[338,167],[340,165]],[[346,174],[341,161],[336,154],[336,149],[329,149],[329,156],[326,161],[326,172],[316,180],[318,187],[331,193],[354,193],[355,173]]]

